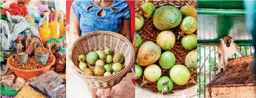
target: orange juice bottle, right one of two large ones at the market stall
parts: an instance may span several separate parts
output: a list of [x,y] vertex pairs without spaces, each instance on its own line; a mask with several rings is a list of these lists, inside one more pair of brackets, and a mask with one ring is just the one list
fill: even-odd
[[53,20],[50,24],[51,37],[59,39],[61,37],[61,24],[57,20],[57,11],[53,11]]

